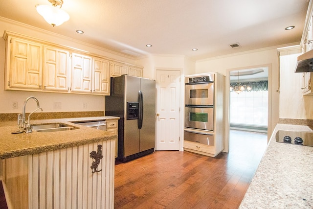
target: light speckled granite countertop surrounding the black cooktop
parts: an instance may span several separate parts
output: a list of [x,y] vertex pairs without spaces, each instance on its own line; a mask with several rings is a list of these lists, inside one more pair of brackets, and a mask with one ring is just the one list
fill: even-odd
[[313,208],[313,147],[276,142],[278,130],[313,132],[277,124],[240,209]]

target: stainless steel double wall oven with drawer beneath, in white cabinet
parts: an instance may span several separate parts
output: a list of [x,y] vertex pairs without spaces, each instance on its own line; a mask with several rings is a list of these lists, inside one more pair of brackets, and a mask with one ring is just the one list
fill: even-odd
[[185,78],[184,140],[214,145],[214,74]]

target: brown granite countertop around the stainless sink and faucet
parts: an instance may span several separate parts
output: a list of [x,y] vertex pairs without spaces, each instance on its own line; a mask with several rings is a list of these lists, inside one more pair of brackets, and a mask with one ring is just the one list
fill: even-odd
[[114,116],[78,117],[47,120],[31,120],[31,124],[65,123],[78,129],[59,132],[36,132],[12,134],[17,130],[17,121],[0,122],[0,159],[37,154],[55,149],[78,146],[103,140],[117,139],[116,134],[71,123],[71,121],[119,119]]

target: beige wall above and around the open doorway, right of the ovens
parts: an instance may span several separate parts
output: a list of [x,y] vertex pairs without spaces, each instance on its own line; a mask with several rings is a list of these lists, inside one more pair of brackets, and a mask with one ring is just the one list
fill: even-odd
[[[279,93],[276,92],[278,90],[278,60],[276,47],[265,48],[198,61],[196,63],[196,73],[220,72],[226,76],[226,85],[229,86],[229,71],[267,66],[269,68],[268,83],[271,84],[268,93],[268,102],[271,107],[268,112],[268,135],[270,135],[279,120]],[[228,105],[228,91],[225,96]],[[228,112],[226,116],[228,116]],[[225,125],[228,126],[228,118]]]

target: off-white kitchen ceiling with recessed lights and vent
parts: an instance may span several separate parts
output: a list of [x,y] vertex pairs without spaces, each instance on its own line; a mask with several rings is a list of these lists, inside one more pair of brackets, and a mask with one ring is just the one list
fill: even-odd
[[[0,0],[0,16],[136,57],[199,60],[299,43],[309,0],[64,0],[70,19],[55,27],[37,13],[36,4],[50,3]],[[295,28],[284,29],[290,25]],[[228,46],[233,43],[241,47]]]

